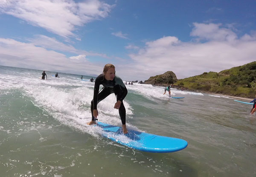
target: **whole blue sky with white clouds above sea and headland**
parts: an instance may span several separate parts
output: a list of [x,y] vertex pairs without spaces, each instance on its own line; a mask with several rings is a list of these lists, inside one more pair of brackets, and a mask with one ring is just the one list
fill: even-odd
[[[255,0],[0,0],[0,65],[125,81],[256,61]],[[40,73],[41,74],[41,73]]]

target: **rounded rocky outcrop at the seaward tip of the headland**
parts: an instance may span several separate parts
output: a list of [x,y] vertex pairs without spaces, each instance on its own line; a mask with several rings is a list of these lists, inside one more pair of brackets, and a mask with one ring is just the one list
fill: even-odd
[[144,84],[152,85],[164,85],[164,84],[173,84],[177,82],[177,77],[172,71],[167,71],[161,75],[151,76],[148,80],[144,81]]

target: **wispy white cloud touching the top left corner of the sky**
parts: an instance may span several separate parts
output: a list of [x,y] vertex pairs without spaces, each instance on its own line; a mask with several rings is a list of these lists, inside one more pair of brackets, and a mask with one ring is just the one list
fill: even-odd
[[63,37],[75,37],[75,26],[107,17],[113,6],[99,0],[4,0],[0,12]]

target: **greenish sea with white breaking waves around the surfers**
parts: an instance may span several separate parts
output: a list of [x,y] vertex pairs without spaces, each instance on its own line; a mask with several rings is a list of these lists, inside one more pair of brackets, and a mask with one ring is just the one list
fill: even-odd
[[[164,87],[127,85],[126,122],[134,129],[185,139],[173,153],[137,151],[101,136],[91,119],[91,76],[0,66],[1,177],[252,177],[256,116],[252,105]],[[99,73],[100,74],[100,73]],[[116,73],[118,75],[118,73]],[[93,77],[95,79],[95,77]],[[114,94],[99,121],[121,126]]]

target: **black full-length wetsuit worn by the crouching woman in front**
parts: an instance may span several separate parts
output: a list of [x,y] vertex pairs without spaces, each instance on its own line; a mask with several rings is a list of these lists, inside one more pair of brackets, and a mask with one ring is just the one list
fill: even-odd
[[[99,85],[103,85],[100,91]],[[127,89],[122,79],[118,76],[115,76],[113,81],[106,80],[104,74],[99,75],[95,79],[93,100],[91,102],[92,120],[94,120],[93,109],[96,110],[97,104],[103,99],[105,99],[107,96],[109,96],[111,93],[115,93],[116,101],[121,101],[121,105],[119,107],[119,115],[122,121],[122,125],[125,125],[126,111],[122,101],[123,99],[125,99],[125,96],[127,95]]]

